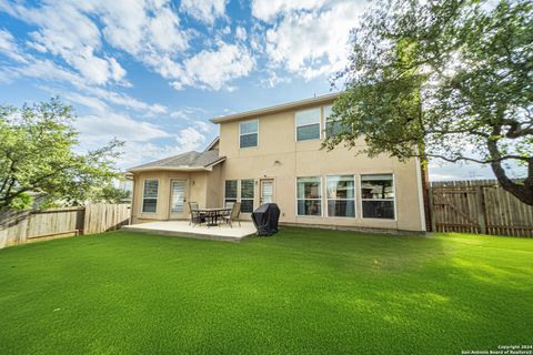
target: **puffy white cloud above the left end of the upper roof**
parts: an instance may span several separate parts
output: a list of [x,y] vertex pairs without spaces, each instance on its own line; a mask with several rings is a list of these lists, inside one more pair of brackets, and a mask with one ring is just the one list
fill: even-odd
[[175,79],[174,89],[198,83],[204,89],[220,90],[231,80],[248,75],[255,62],[245,47],[220,42],[217,50],[203,50],[185,60],[183,65],[167,64],[164,72]]

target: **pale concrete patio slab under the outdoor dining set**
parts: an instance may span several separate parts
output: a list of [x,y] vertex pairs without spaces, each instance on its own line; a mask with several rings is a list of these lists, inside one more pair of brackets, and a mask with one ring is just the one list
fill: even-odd
[[239,242],[242,239],[257,233],[253,223],[248,221],[241,222],[241,226],[239,226],[239,222],[233,222],[233,227],[230,227],[227,224],[208,227],[205,224],[197,224],[194,226],[189,225],[189,221],[161,221],[124,225],[122,226],[122,230],[149,234],[187,236],[230,242]]

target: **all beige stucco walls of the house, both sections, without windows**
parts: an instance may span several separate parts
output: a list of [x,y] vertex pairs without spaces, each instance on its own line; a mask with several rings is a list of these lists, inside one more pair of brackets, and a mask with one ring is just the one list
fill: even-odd
[[[323,106],[331,100],[306,101],[304,104],[263,113],[240,114],[217,119],[220,122],[219,155],[225,161],[201,172],[142,172],[134,174],[133,222],[175,219],[170,211],[170,181],[188,181],[188,201],[201,206],[223,204],[224,181],[253,179],[255,185],[254,207],[260,205],[260,186],[263,179],[274,182],[274,202],[281,210],[280,222],[286,224],[322,225],[333,227],[384,229],[402,231],[425,231],[422,203],[420,164],[416,160],[400,162],[396,159],[379,156],[369,159],[356,155],[355,149],[336,148],[330,152],[321,150],[321,140],[296,142],[295,112],[320,108],[324,124]],[[239,148],[239,124],[248,120],[259,121],[259,144],[257,148]],[[360,142],[359,144],[362,144]],[[393,174],[395,219],[363,219],[360,184],[362,174]],[[355,217],[329,217],[325,212],[325,176],[354,175]],[[322,216],[296,215],[296,178],[322,176]],[[158,211],[154,214],[141,212],[142,184],[148,178],[160,180]],[[184,217],[184,216],[181,216]],[[249,214],[243,214],[249,219]]]

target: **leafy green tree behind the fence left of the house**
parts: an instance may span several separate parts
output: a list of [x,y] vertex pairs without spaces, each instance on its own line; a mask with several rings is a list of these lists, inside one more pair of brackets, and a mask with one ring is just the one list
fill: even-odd
[[78,204],[93,186],[118,176],[114,159],[122,142],[77,153],[73,119],[59,99],[20,110],[0,108],[0,210],[20,206],[30,191]]

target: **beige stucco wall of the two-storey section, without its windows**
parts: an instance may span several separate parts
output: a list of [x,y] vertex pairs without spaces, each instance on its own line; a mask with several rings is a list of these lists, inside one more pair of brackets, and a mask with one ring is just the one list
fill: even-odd
[[[282,211],[281,222],[284,223],[405,231],[423,231],[425,229],[423,206],[421,205],[420,174],[418,174],[418,162],[414,159],[405,163],[388,156],[369,159],[365,155],[356,155],[356,149],[336,148],[330,152],[320,150],[320,140],[296,142],[294,113],[295,111],[285,111],[247,119],[259,119],[258,148],[239,148],[239,123],[247,120],[221,123],[220,155],[227,156],[222,164],[222,180],[254,179],[254,207],[257,207],[260,204],[260,180],[274,179],[274,201]],[[358,144],[361,146],[363,142]],[[392,173],[394,176],[395,220],[362,217],[361,174],[379,173]],[[336,174],[355,175],[355,217],[298,216],[295,211],[296,176]],[[322,195],[325,196],[324,183],[322,184]],[[223,195],[218,199],[222,203]]]

